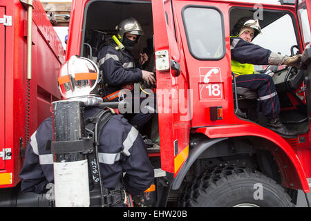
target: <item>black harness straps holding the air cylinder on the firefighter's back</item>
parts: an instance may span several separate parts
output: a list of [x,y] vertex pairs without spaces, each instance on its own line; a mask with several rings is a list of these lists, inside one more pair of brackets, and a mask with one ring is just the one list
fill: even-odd
[[[131,195],[117,186],[115,189],[106,189],[102,186],[100,176],[100,165],[98,158],[98,147],[100,146],[100,134],[104,126],[115,115],[112,108],[103,108],[93,117],[84,120],[85,137],[77,141],[62,141],[46,143],[46,150],[53,154],[82,153],[88,160],[88,171],[93,182],[93,190],[90,191],[90,206],[109,207],[117,204],[133,206]],[[122,180],[122,177],[121,177]],[[89,180],[90,181],[90,180]],[[54,203],[53,203],[54,204]]]

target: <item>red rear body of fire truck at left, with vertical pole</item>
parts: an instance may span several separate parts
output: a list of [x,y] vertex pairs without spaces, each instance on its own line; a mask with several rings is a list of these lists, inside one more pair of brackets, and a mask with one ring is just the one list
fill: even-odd
[[29,137],[61,98],[65,51],[40,1],[0,2],[0,188],[19,184]]

